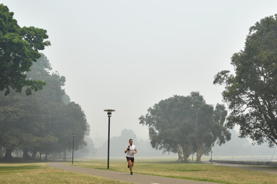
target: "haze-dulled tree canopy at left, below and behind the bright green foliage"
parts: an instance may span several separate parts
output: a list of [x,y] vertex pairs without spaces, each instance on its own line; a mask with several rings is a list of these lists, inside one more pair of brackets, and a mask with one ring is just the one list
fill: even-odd
[[58,72],[51,74],[51,64],[41,55],[27,77],[46,81],[43,90],[30,96],[15,91],[5,96],[0,92],[0,146],[6,148],[6,159],[15,147],[23,150],[23,158],[30,157],[29,151],[33,158],[37,152],[59,152],[65,143],[71,150],[73,132],[74,150],[86,145],[84,137],[89,135],[89,124],[85,113],[79,104],[64,102],[66,94],[61,87],[65,77]]

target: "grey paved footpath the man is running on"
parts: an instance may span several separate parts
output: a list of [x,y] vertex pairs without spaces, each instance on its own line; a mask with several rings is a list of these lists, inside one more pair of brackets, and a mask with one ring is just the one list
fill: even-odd
[[[117,171],[70,166],[67,164],[63,164],[61,162],[48,162],[47,164],[48,164],[48,166],[60,168],[62,170],[68,170],[71,172],[84,173],[84,174],[94,175],[94,176],[101,176],[101,177],[105,177],[105,178],[111,178],[111,179],[133,182],[133,183],[138,183],[138,184],[170,184],[170,183],[174,183],[174,184],[212,184],[212,182],[193,181],[193,180],[151,176],[151,175],[141,175],[141,174],[136,174],[136,173],[134,173],[133,175],[130,175],[130,173],[122,173],[122,172],[117,172]],[[214,184],[216,184],[216,183],[214,183]]]

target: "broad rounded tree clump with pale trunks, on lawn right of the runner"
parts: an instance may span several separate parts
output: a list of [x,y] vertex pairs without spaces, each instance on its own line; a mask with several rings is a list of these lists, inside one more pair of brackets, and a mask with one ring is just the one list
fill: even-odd
[[196,162],[201,162],[216,140],[221,145],[231,137],[223,127],[227,115],[224,106],[217,104],[214,110],[199,92],[161,100],[147,111],[139,123],[148,126],[152,147],[177,152],[184,162],[193,150],[197,151]]

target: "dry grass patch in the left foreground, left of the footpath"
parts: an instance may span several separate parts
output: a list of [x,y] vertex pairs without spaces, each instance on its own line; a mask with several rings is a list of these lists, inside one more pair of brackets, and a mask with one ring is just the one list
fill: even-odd
[[128,182],[51,168],[46,162],[0,163],[0,183],[16,184],[127,184]]

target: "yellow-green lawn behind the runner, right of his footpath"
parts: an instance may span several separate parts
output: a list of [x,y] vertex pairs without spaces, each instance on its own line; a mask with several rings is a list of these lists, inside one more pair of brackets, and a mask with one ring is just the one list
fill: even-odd
[[[133,172],[144,175],[156,175],[197,181],[209,181],[226,184],[267,184],[277,183],[277,175],[256,171],[232,168],[204,163],[180,163],[177,158],[143,158],[136,157]],[[71,162],[65,162],[72,165]],[[109,170],[126,172],[127,160],[124,158],[111,158]],[[74,166],[107,169],[107,158],[75,159]]]

